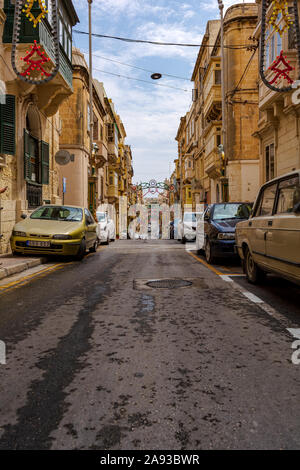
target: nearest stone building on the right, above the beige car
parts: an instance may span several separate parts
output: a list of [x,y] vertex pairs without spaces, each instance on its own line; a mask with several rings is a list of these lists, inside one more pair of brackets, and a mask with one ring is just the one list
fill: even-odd
[[[257,1],[260,10],[260,1]],[[289,7],[290,8],[290,7]],[[272,7],[267,10],[270,18]],[[291,11],[291,10],[290,10]],[[298,1],[298,12],[300,1]],[[255,36],[260,38],[260,17]],[[290,77],[299,77],[297,63],[296,37],[293,27],[280,38],[276,31],[269,28],[267,39],[267,64],[272,63],[282,49],[294,67]],[[258,71],[257,71],[258,74]],[[260,183],[300,168],[300,104],[293,102],[295,91],[287,93],[270,90],[259,79],[259,119],[255,136],[259,143]],[[295,101],[295,100],[294,100]]]

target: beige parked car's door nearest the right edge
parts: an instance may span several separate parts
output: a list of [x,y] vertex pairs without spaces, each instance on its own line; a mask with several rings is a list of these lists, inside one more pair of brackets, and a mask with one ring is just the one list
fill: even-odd
[[299,175],[279,181],[274,215],[268,219],[266,255],[274,270],[300,279],[300,214],[294,212],[299,202]]

